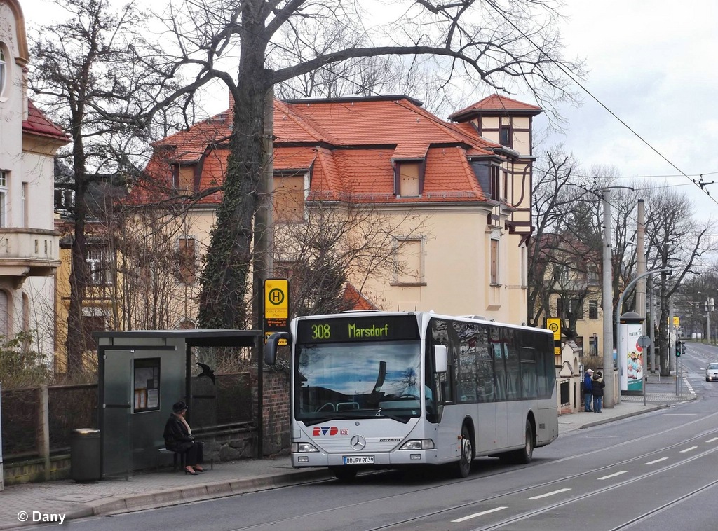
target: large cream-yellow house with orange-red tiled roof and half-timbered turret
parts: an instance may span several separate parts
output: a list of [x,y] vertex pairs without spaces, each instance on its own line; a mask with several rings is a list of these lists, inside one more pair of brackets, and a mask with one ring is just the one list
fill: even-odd
[[[358,296],[380,309],[520,324],[527,314],[531,121],[538,113],[498,95],[454,113],[452,121],[404,95],[276,100],[276,230],[311,222],[312,210],[327,202],[370,207],[393,227],[395,267],[355,273],[349,280]],[[151,189],[134,193],[135,201],[149,203],[206,192],[179,237],[193,240],[197,258],[221,199],[215,187],[227,165],[231,116],[230,109],[154,144]],[[291,255],[275,245],[276,261]]]

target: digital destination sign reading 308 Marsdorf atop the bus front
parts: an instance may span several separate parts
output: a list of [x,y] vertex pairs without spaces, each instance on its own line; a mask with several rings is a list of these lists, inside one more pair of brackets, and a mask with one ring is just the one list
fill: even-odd
[[419,339],[415,316],[307,319],[297,324],[297,342],[353,342]]

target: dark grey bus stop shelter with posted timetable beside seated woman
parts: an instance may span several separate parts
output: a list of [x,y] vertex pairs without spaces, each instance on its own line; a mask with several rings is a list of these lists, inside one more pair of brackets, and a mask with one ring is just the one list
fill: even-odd
[[[192,347],[252,347],[259,352],[264,334],[261,330],[191,329],[93,332],[93,336],[98,344],[100,474],[108,478],[129,477],[134,470],[157,464],[172,404],[192,401]],[[258,363],[261,412],[261,355]],[[257,423],[261,455],[261,414]]]

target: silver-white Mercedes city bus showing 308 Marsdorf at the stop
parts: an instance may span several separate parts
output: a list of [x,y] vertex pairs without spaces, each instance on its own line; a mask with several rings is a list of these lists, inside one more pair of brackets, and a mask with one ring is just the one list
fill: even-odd
[[528,463],[558,436],[551,332],[433,312],[298,317],[288,339],[292,465],[454,466],[477,456]]

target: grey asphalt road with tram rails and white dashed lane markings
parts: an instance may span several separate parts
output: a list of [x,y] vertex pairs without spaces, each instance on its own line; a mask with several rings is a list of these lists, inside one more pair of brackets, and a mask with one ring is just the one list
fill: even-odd
[[[75,530],[706,531],[718,521],[718,348],[689,345],[699,400],[559,437],[528,466],[477,459],[437,471],[363,474],[164,509],[75,520]],[[667,379],[666,385],[673,385]]]

